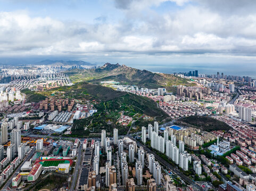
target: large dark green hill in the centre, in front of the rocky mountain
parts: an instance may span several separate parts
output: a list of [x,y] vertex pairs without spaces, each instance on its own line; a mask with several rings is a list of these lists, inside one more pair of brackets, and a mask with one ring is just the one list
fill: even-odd
[[[95,107],[98,110],[91,117],[75,120],[72,127],[71,136],[97,136],[101,129],[112,132],[113,128],[119,129],[119,134],[126,134],[129,126],[121,126],[117,123],[121,115],[130,117],[138,114],[150,116],[155,120],[162,121],[168,119],[168,115],[157,107],[156,103],[149,98],[141,97],[132,93],[115,91],[101,85],[78,83],[72,86],[55,88],[47,92],[54,93],[60,97],[74,97],[75,99],[95,99]],[[92,135],[93,134],[93,135]]]

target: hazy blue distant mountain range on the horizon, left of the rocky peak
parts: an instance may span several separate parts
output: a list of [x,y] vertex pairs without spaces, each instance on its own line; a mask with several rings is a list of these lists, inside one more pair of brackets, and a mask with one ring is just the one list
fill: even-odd
[[69,65],[76,65],[76,66],[81,66],[81,65],[87,65],[87,66],[96,66],[96,64],[91,64],[88,62],[84,62],[82,60],[69,60],[69,61],[64,61],[64,60],[42,60],[40,62],[35,63],[34,65],[63,65],[63,66],[69,66]]

